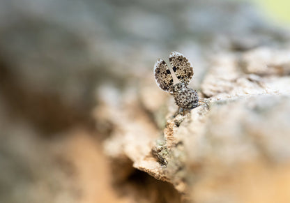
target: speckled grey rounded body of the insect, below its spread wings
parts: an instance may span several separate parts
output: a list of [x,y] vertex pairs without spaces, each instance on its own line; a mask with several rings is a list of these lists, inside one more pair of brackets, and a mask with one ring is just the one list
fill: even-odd
[[174,85],[173,95],[178,107],[192,109],[198,105],[199,96],[197,95],[197,91],[187,87],[182,82]]

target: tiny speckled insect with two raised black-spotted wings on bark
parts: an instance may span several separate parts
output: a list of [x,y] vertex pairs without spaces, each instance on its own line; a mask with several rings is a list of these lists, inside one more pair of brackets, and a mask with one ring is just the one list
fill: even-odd
[[174,71],[178,83],[174,84],[173,76],[164,60],[158,59],[154,66],[155,82],[163,91],[167,91],[174,96],[178,112],[180,108],[183,110],[193,109],[198,106],[199,96],[197,91],[188,87],[193,76],[193,68],[190,61],[183,54],[171,52],[169,62]]

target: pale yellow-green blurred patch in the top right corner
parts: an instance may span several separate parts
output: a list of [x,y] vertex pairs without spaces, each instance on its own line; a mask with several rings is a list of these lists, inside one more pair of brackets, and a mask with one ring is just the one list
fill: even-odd
[[275,22],[290,24],[289,0],[250,0],[257,3]]

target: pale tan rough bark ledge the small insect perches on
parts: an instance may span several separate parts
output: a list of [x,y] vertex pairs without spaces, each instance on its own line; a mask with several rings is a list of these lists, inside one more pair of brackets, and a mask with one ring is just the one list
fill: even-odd
[[185,116],[150,73],[137,88],[106,90],[116,98],[100,94],[96,119],[113,126],[105,153],[192,202],[289,202],[290,48],[254,39],[199,58],[194,84],[206,104]]

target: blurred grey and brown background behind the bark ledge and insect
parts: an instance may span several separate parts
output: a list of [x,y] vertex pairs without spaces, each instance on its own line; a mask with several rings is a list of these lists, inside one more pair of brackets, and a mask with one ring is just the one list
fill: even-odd
[[159,91],[153,64],[174,50],[199,67],[193,84],[199,89],[209,54],[283,45],[289,6],[1,0],[0,202],[135,202],[140,194],[132,188],[144,185],[158,185],[155,196],[164,193],[160,188],[177,193],[142,172],[114,183],[102,153],[114,123],[102,119],[100,105],[118,107],[146,84]]

